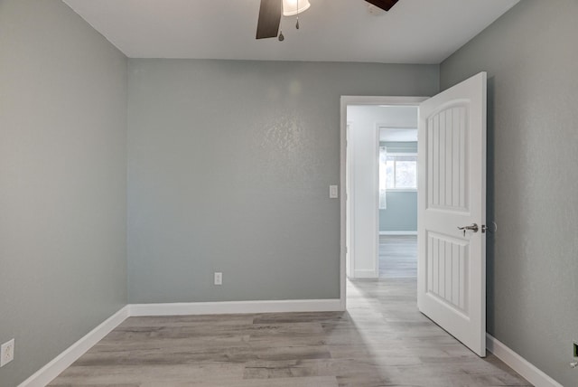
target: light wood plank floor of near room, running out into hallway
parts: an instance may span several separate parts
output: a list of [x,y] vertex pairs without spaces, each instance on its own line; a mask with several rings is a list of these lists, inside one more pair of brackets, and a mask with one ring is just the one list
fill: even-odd
[[348,283],[345,313],[130,317],[51,386],[529,386],[416,309],[415,276]]

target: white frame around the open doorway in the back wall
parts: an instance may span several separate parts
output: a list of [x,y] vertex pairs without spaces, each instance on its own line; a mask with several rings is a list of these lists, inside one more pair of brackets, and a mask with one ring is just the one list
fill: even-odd
[[[382,96],[341,96],[340,99],[340,306],[347,307],[346,286],[346,246],[347,246],[347,208],[346,208],[346,171],[347,171],[347,107],[348,105],[391,105],[419,106],[429,97],[382,97]],[[419,190],[419,187],[418,187]],[[377,230],[376,230],[377,231]]]

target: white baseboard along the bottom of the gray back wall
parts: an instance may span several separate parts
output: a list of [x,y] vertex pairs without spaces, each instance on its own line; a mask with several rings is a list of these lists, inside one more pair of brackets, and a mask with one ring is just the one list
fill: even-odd
[[333,312],[344,310],[341,308],[340,300],[337,298],[132,304],[129,307],[130,316],[227,315],[238,313]]

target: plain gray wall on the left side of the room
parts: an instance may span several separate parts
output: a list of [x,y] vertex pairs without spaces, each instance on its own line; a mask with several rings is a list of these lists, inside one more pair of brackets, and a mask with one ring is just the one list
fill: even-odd
[[126,305],[126,72],[61,1],[0,2],[2,386]]

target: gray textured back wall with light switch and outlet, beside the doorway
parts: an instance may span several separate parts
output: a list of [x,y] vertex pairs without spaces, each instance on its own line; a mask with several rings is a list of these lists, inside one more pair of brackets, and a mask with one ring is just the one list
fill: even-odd
[[340,96],[432,95],[438,67],[129,63],[130,302],[340,297]]

